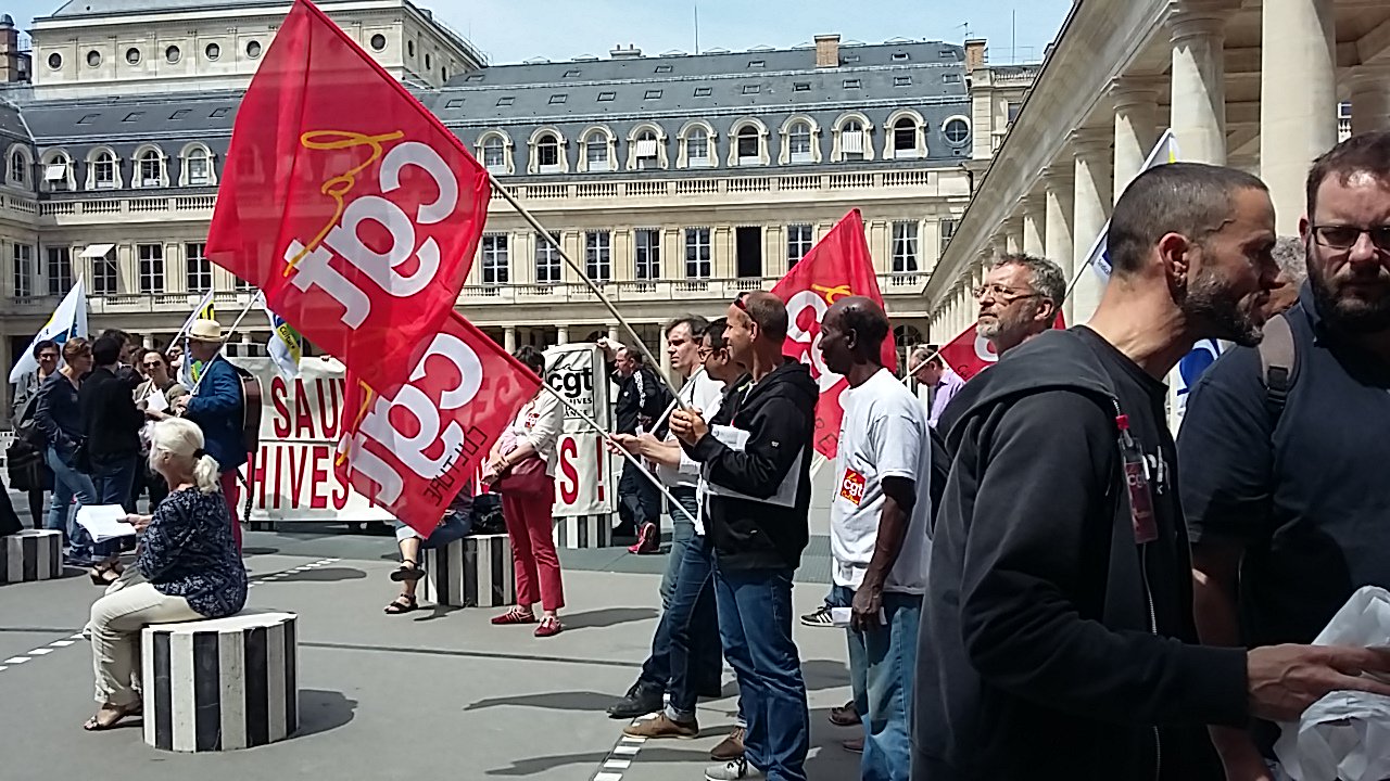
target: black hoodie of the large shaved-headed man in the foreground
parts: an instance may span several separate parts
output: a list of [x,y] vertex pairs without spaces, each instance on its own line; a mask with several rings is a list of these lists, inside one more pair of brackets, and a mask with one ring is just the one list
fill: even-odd
[[[952,402],[913,777],[1222,777],[1202,724],[1245,721],[1245,655],[1188,645],[1163,399],[1161,382],[1073,328],[1011,350]],[[1116,404],[1147,461],[1158,529],[1147,545],[1136,542]]]

